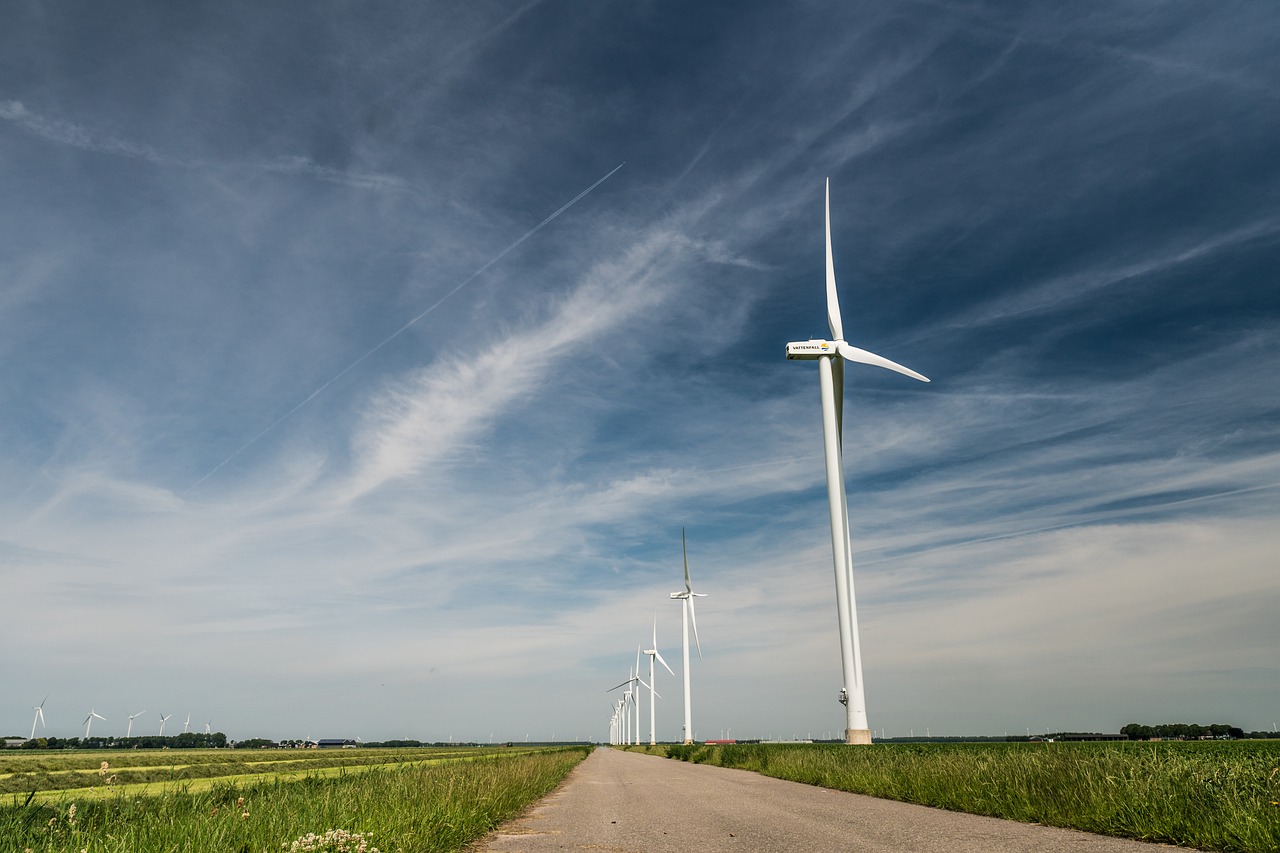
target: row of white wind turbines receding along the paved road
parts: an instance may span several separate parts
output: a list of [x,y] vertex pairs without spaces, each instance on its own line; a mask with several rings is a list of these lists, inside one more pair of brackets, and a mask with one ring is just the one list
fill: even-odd
[[[845,464],[844,464],[844,409],[845,409],[845,362],[865,364],[876,368],[884,368],[911,377],[920,382],[929,379],[910,368],[905,368],[896,361],[860,350],[845,341],[844,321],[840,315],[840,297],[836,292],[836,268],[831,251],[831,181],[826,186],[826,237],[827,237],[827,324],[831,329],[831,341],[809,339],[787,343],[787,359],[796,361],[818,362],[818,388],[822,402],[822,435],[823,456],[827,474],[827,503],[831,516],[831,553],[836,575],[836,615],[840,624],[840,663],[844,676],[838,701],[845,707],[845,743],[868,744],[872,742],[870,725],[867,717],[867,697],[863,689],[863,657],[861,643],[858,635],[858,608],[854,597],[854,561],[852,547],[849,538],[849,500],[845,489]],[[681,547],[684,547],[684,533],[681,533]],[[694,619],[694,598],[701,593],[695,593],[689,580],[689,557],[685,555],[685,589],[671,593],[673,599],[680,599],[685,610],[685,743],[691,743],[692,721],[690,713],[689,694],[689,625],[694,622],[694,642],[698,643],[698,622]],[[613,717],[609,721],[611,743],[637,743],[639,742],[639,688],[649,690],[649,743],[654,743],[654,713],[653,701],[657,692],[653,689],[654,661],[659,661],[669,672],[671,667],[658,654],[657,621],[654,622],[653,648],[644,652],[649,654],[649,683],[639,676],[640,652],[636,653],[636,666],[631,678],[617,685],[626,686],[627,690],[617,702]],[[701,644],[698,643],[698,656],[701,658]],[[675,675],[672,672],[672,675]],[[632,710],[635,720],[632,721]],[[635,733],[631,724],[635,724]]]

